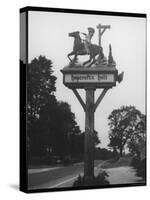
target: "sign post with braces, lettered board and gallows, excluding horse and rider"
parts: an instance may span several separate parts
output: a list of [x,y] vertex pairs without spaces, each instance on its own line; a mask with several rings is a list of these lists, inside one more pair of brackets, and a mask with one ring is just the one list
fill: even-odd
[[[99,30],[99,47],[101,47],[101,36],[108,25],[97,26]],[[77,33],[77,32],[75,32]],[[110,48],[111,50],[111,48]],[[112,56],[112,52],[110,52]],[[76,56],[76,55],[75,55]],[[110,57],[110,55],[109,55]],[[123,74],[118,75],[118,70],[113,62],[101,63],[100,54],[98,64],[92,65],[90,68],[84,67],[83,64],[71,63],[64,67],[63,84],[71,89],[85,112],[85,137],[84,137],[84,181],[89,185],[94,179],[94,116],[95,111],[104,98],[107,91],[116,86],[123,79]],[[78,93],[77,89],[84,89],[86,102]],[[95,101],[94,94],[96,89],[102,89],[98,99]]]

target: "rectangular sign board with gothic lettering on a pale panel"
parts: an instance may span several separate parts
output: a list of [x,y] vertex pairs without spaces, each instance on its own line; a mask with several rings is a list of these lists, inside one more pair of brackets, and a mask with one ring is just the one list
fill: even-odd
[[63,83],[69,88],[105,88],[116,85],[118,71],[111,68],[63,69]]

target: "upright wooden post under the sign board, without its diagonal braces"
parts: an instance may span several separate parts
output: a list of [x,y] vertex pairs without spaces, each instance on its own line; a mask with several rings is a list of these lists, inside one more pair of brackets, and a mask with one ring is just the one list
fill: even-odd
[[84,180],[91,183],[94,178],[94,88],[86,89]]

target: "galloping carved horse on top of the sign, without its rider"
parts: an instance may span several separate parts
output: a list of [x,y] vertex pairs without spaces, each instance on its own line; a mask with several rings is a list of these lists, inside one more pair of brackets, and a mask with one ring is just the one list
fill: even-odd
[[[79,33],[80,33],[79,31],[69,33],[69,37],[74,37],[73,51],[67,55],[67,57],[69,58],[71,63],[72,64],[75,63],[78,55],[89,55],[90,56],[89,60],[85,61],[83,63],[83,65],[92,61],[90,63],[90,66],[91,66],[93,63],[95,63],[95,61],[96,61],[95,57],[98,54],[100,55],[101,59],[103,59],[104,58],[103,49],[101,46],[98,46],[96,44],[90,44],[89,45],[89,53],[87,53],[87,51],[85,49],[85,45],[82,42]],[[71,59],[70,56],[73,56],[73,55],[74,55],[74,58]]]

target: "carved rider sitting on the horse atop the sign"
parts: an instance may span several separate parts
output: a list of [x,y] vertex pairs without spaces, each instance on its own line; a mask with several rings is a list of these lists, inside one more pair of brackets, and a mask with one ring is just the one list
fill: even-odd
[[88,34],[82,33],[85,36],[84,46],[85,46],[87,54],[90,53],[89,47],[91,45],[91,39],[92,39],[94,33],[95,33],[95,30],[94,30],[94,28],[91,28],[91,27],[88,28]]

